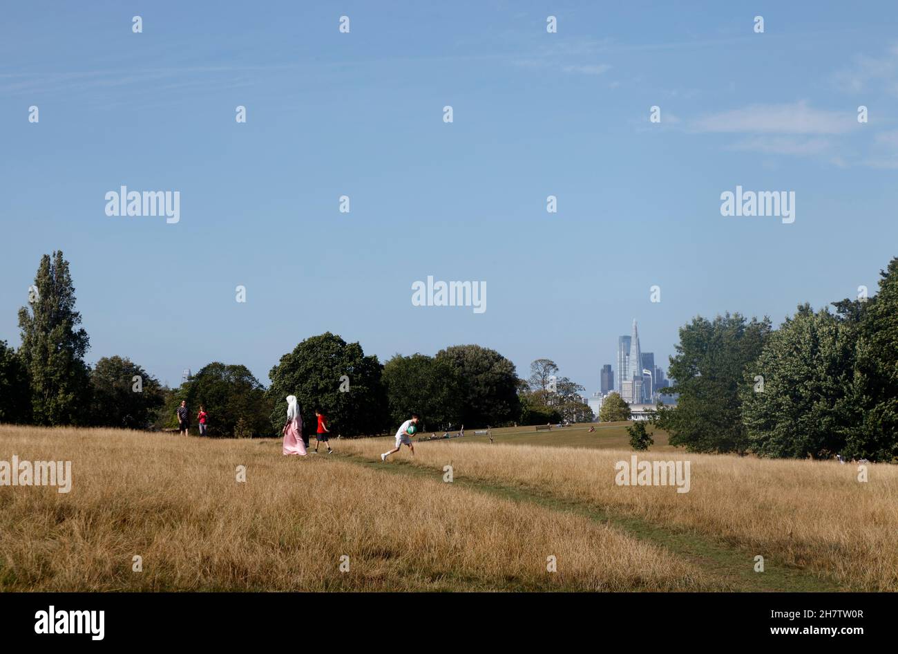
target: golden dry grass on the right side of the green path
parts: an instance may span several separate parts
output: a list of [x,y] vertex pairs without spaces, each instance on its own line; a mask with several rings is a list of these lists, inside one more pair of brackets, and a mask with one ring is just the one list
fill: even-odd
[[[340,441],[375,459],[392,439]],[[691,461],[691,491],[614,483],[614,464],[632,451],[432,441],[418,465],[487,482],[511,483],[562,499],[611,508],[652,523],[710,536],[751,555],[775,557],[836,579],[846,588],[898,590],[898,468],[651,451],[639,459]],[[409,459],[403,448],[393,458]],[[387,464],[393,464],[388,461]]]

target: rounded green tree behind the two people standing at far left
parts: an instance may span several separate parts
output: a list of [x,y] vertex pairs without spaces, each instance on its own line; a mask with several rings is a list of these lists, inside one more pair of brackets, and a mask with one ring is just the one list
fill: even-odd
[[176,424],[175,410],[185,400],[190,411],[191,429],[197,426],[200,405],[206,408],[210,437],[275,434],[269,420],[271,403],[266,398],[265,388],[245,366],[210,363],[181,384],[174,399],[174,406],[170,407],[172,425]]

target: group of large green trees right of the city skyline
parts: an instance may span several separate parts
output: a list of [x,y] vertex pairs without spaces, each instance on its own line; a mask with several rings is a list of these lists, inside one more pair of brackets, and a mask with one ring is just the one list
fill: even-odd
[[874,296],[798,305],[779,329],[742,314],[680,329],[677,405],[656,425],[692,452],[898,458],[898,257]]

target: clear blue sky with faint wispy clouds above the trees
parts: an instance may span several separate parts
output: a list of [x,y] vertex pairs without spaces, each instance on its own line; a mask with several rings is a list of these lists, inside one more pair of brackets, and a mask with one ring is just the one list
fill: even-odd
[[[382,360],[552,358],[592,393],[633,318],[666,368],[696,314],[873,292],[898,254],[895,5],[625,5],[4,4],[0,339],[55,249],[89,360],[170,384],[214,360],[267,382],[333,331]],[[106,216],[122,184],[179,190],[180,222]],[[722,217],[737,185],[794,190],[796,221]],[[428,275],[486,282],[487,311],[413,306]]]

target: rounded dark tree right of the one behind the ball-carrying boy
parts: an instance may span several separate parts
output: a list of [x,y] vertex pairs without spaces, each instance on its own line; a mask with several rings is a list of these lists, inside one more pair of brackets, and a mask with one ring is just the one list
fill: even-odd
[[462,380],[462,423],[469,427],[508,424],[521,415],[515,364],[495,349],[453,345],[436,358],[451,364]]

